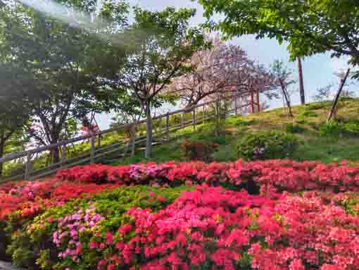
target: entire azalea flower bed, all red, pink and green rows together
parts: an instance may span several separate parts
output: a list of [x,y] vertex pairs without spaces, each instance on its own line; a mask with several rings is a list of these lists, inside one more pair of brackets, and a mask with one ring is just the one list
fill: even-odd
[[358,187],[347,164],[80,166],[1,185],[0,233],[46,270],[354,270]]

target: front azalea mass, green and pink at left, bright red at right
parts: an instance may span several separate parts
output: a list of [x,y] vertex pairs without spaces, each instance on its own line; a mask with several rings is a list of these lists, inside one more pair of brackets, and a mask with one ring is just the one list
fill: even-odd
[[35,254],[42,269],[359,267],[359,219],[341,207],[345,196],[180,191],[122,188],[49,209],[9,250]]

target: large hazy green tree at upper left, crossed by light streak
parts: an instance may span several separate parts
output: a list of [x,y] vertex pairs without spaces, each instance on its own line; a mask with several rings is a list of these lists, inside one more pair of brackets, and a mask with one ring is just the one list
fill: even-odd
[[[102,37],[113,36],[121,30],[127,5],[104,1],[99,14],[95,14],[96,1],[68,0],[61,4],[69,20],[63,16],[58,20],[56,13],[39,12],[16,1],[6,1],[1,9],[4,14],[1,23],[6,27],[0,35],[3,49],[0,59],[4,62],[6,57],[10,58],[16,66],[33,74],[32,87],[37,98],[27,105],[32,118],[41,125],[37,125],[40,130],[31,126],[28,129],[40,145],[63,140],[70,121],[85,118],[90,111],[104,109],[104,103],[96,102],[96,97],[101,95],[101,76],[108,75],[108,70],[113,68],[106,60],[110,54],[118,59],[123,56],[123,49],[113,50],[113,42]],[[77,9],[99,16],[106,24],[82,25],[82,21],[86,21],[82,16],[87,13],[78,13]],[[51,156],[53,161],[58,160],[57,147]]]

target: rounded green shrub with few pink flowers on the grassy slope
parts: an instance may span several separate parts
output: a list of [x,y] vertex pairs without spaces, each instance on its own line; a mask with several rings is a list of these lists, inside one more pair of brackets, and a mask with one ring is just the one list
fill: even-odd
[[237,154],[246,160],[291,158],[298,147],[294,135],[275,131],[258,131],[243,137],[237,144]]

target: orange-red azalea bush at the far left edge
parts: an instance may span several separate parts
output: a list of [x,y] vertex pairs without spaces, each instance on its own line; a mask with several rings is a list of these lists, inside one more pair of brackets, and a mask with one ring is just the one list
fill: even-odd
[[[117,184],[96,185],[74,181],[22,181],[0,185],[0,259],[8,259],[6,246],[10,235],[50,207],[74,198],[89,197]],[[6,233],[6,226],[11,224]],[[23,255],[23,254],[21,254]]]

